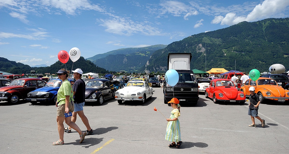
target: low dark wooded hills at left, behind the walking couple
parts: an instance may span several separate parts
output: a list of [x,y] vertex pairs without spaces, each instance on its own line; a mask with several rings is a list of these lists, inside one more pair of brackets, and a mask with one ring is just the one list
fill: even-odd
[[[55,72],[58,72],[58,70],[64,68],[69,71],[71,69],[75,70],[77,68],[80,68],[84,73],[88,72],[94,72],[94,73],[109,73],[109,71],[99,67],[95,66],[91,61],[85,60],[83,57],[80,57],[76,62],[72,62],[70,59],[66,64],[63,64],[60,61],[55,62],[51,66],[47,67],[30,67],[29,65],[24,65],[20,62],[10,61],[6,58],[0,57],[0,70],[8,73],[13,74],[27,74],[30,73],[30,70],[34,70],[36,74],[38,73],[50,73],[54,74]],[[72,68],[73,66],[73,68]]]

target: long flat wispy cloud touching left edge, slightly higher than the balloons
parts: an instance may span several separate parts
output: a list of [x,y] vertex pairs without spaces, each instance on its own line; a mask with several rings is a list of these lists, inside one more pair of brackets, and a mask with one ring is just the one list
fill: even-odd
[[47,35],[48,33],[45,32],[43,28],[27,29],[27,30],[35,32],[28,35],[0,32],[0,38],[25,38],[30,40],[41,40],[45,39],[45,37],[48,37]]

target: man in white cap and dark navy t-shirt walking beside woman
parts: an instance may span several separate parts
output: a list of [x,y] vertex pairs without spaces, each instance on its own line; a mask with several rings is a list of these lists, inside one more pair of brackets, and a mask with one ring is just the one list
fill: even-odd
[[[93,133],[87,117],[84,115],[83,106],[84,106],[84,96],[85,96],[85,82],[81,79],[83,71],[81,69],[75,69],[73,72],[74,78],[76,81],[73,84],[73,99],[74,99],[74,111],[72,113],[71,121],[75,122],[77,114],[81,118],[82,122],[87,128],[86,135],[90,135]],[[66,133],[71,132],[71,127],[65,127],[64,131]]]

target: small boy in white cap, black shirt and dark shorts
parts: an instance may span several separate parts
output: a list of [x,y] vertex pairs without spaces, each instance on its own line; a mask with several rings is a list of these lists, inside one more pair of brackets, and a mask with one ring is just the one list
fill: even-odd
[[260,120],[261,121],[261,126],[264,127],[265,126],[265,120],[261,119],[258,116],[258,109],[259,109],[260,99],[259,99],[258,95],[255,93],[255,88],[254,87],[250,87],[249,88],[249,92],[250,92],[250,96],[249,96],[249,101],[250,102],[249,102],[248,115],[251,115],[251,120],[252,120],[252,124],[249,125],[249,127],[256,127],[255,118]]

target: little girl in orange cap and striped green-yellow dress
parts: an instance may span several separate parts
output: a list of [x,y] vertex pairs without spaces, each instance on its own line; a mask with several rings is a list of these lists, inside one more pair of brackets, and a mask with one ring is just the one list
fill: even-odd
[[[172,141],[168,147],[177,147],[179,148],[181,144],[183,143],[181,141],[181,128],[178,117],[181,116],[179,105],[179,100],[177,98],[172,98],[171,101],[168,103],[171,103],[171,107],[174,108],[173,111],[171,111],[171,116],[169,119],[166,119],[168,121],[168,125],[166,126],[166,140]],[[177,144],[176,144],[177,142]]]

